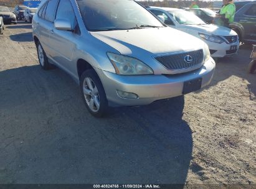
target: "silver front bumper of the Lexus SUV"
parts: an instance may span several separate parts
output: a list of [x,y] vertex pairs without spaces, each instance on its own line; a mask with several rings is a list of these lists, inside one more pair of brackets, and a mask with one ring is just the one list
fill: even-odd
[[[183,95],[185,81],[202,78],[202,88],[209,85],[214,75],[215,62],[209,58],[198,70],[178,75],[123,76],[96,70],[100,76],[110,106],[141,106],[160,99]],[[135,93],[136,99],[121,98],[116,90]]]

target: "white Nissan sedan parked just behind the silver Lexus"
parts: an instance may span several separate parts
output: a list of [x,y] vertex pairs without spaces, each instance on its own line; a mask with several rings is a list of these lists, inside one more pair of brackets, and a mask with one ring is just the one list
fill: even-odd
[[233,55],[239,50],[239,37],[234,30],[206,24],[196,15],[181,9],[167,7],[149,7],[148,9],[169,27],[191,34],[206,42],[212,57],[220,58]]

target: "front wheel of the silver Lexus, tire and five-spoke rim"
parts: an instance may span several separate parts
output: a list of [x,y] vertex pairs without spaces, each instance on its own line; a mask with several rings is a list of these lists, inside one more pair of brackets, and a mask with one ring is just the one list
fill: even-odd
[[80,77],[80,90],[86,108],[93,116],[100,118],[108,111],[108,101],[102,82],[95,70],[83,72]]

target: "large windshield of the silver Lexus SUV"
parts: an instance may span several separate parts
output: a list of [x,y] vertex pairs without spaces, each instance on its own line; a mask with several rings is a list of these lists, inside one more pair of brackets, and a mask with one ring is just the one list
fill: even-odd
[[78,0],[83,22],[90,31],[163,27],[145,8],[131,0]]

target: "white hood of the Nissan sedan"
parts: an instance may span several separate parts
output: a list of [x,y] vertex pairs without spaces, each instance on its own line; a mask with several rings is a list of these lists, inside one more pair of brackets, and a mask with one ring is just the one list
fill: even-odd
[[214,24],[204,24],[204,25],[186,25],[187,29],[197,30],[198,32],[204,34],[213,34],[213,35],[220,35],[220,36],[230,36],[230,35],[237,35],[233,30],[219,26]]

